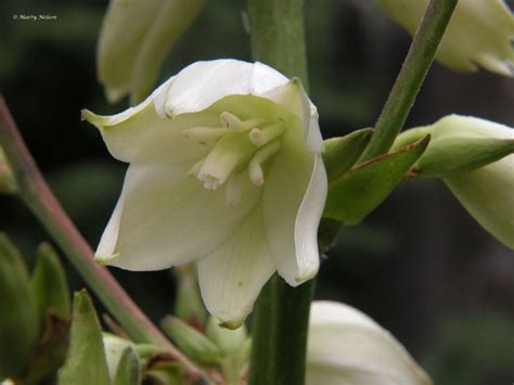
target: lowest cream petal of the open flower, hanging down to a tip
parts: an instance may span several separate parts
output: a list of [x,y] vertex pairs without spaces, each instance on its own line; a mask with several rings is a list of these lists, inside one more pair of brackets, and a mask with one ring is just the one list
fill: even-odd
[[223,326],[241,326],[275,269],[259,204],[222,245],[198,261],[207,309]]

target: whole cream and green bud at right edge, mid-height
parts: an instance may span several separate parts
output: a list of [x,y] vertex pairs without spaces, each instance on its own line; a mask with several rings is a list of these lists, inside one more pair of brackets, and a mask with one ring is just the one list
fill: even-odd
[[427,132],[434,139],[412,171],[440,176],[481,227],[514,248],[514,129],[451,115],[403,132],[395,146]]

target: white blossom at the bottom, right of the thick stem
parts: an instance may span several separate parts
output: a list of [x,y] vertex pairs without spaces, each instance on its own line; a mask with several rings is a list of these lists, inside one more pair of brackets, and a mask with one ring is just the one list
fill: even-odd
[[427,385],[426,373],[389,332],[350,306],[314,301],[307,385]]

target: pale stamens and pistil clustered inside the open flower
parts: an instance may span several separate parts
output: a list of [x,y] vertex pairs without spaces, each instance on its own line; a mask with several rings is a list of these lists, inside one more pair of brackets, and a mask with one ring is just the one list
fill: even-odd
[[214,143],[213,150],[189,175],[195,176],[208,190],[216,190],[229,180],[228,194],[234,196],[237,193],[234,185],[241,183],[231,177],[240,171],[246,170],[252,183],[262,185],[262,164],[279,151],[285,123],[262,118],[242,120],[228,112],[220,114],[220,127],[191,127],[183,131],[185,138],[198,143]]

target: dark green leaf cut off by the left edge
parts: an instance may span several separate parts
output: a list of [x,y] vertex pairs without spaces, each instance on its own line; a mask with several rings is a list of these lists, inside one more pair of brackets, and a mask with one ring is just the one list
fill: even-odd
[[36,344],[38,328],[27,268],[0,233],[0,378],[20,376]]

